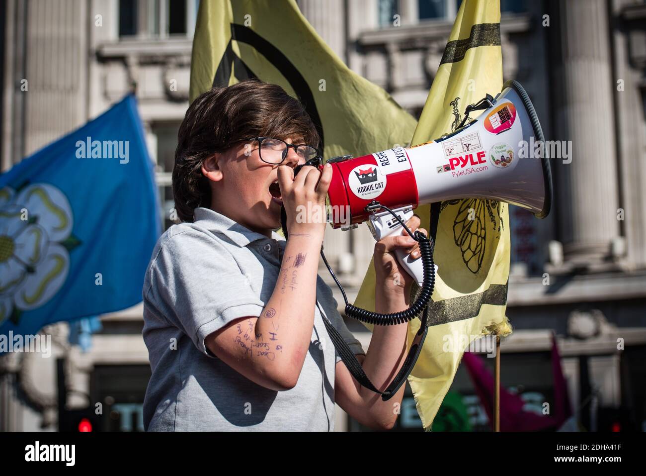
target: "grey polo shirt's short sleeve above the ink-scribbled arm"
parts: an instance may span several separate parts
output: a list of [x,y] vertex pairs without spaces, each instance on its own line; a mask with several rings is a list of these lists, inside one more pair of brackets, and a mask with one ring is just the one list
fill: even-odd
[[264,303],[222,244],[207,233],[187,230],[161,244],[149,268],[149,299],[193,340],[204,339],[231,321],[258,317]]

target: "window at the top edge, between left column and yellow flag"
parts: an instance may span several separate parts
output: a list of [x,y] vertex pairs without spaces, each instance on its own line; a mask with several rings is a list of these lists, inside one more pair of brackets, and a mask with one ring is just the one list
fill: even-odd
[[192,37],[200,0],[120,0],[119,36]]

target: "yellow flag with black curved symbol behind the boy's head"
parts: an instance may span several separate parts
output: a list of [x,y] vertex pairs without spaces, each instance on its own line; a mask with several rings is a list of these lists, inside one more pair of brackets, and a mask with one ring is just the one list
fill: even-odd
[[415,131],[415,119],[386,91],[350,70],[294,0],[200,2],[191,101],[214,85],[255,77],[304,103],[326,160],[408,144]]

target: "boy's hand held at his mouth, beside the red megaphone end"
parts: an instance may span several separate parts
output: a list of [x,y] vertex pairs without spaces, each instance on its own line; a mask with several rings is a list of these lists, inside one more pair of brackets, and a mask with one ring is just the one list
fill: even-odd
[[287,229],[323,238],[326,226],[325,197],[332,181],[332,167],[326,164],[321,173],[316,167],[304,166],[296,177],[290,166],[278,166],[280,197],[287,215]]

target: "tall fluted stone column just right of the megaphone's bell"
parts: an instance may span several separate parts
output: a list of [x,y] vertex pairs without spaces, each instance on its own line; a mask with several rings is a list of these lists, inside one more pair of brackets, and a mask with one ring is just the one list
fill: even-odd
[[[610,33],[605,0],[552,1],[553,136],[571,140],[572,162],[552,158],[559,240],[566,263],[594,266],[619,236]],[[556,17],[556,18],[555,18]]]

